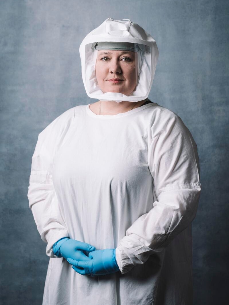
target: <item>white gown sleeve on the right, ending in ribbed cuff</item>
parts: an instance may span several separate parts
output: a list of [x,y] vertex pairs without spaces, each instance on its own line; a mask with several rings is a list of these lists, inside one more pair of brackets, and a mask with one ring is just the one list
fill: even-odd
[[194,219],[201,192],[197,145],[175,113],[159,117],[150,131],[148,166],[153,208],[126,231],[116,248],[122,274],[161,252]]

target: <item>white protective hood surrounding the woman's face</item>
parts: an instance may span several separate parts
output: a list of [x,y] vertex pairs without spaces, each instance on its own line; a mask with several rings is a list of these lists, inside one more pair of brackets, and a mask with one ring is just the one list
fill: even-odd
[[[138,80],[131,95],[116,92],[103,92],[96,80],[95,64],[99,42],[127,42],[134,44],[138,58]],[[106,44],[98,44],[106,45]],[[91,31],[80,47],[82,79],[87,95],[101,101],[138,102],[148,97],[158,61],[158,47],[155,40],[138,24],[129,19],[114,20],[107,18],[99,27]]]

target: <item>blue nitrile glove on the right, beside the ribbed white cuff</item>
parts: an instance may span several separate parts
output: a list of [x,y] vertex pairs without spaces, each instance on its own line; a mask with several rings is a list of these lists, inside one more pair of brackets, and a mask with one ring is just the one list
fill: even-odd
[[68,258],[67,261],[76,272],[82,275],[105,275],[119,271],[115,249],[95,250],[90,252],[88,257],[90,257],[90,261],[71,258]]

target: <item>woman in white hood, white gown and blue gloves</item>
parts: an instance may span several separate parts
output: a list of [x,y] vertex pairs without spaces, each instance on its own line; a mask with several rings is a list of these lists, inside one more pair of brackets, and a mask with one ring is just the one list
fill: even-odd
[[29,206],[50,257],[43,305],[192,304],[197,146],[147,99],[158,48],[108,18],[80,45],[86,93],[38,136]]

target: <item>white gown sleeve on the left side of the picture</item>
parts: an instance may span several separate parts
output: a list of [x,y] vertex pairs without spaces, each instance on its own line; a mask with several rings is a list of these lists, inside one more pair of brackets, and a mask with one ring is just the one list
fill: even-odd
[[28,187],[29,207],[31,208],[38,232],[47,243],[46,254],[56,257],[53,244],[62,237],[69,236],[61,217],[52,174],[48,164],[48,154],[41,153],[40,137],[32,156],[31,174]]

